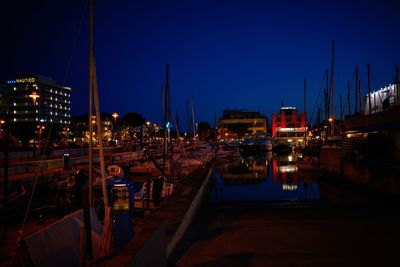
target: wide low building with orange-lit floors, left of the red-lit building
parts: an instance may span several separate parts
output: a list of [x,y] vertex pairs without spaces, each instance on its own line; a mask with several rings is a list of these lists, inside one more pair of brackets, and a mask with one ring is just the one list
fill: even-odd
[[227,109],[218,121],[218,137],[238,138],[244,135],[267,134],[267,117],[258,111]]

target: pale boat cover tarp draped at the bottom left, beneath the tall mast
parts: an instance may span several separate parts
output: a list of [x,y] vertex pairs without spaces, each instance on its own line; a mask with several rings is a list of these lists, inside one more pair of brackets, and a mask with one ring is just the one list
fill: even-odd
[[[93,258],[100,257],[103,226],[90,209]],[[25,253],[34,266],[79,266],[80,231],[83,228],[83,210],[66,215],[61,220],[33,233],[23,240]]]

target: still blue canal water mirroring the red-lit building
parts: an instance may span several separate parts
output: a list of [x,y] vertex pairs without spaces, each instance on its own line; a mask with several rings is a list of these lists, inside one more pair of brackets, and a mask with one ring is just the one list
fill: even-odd
[[213,202],[318,202],[319,184],[312,174],[297,171],[296,154],[246,155],[218,166]]

